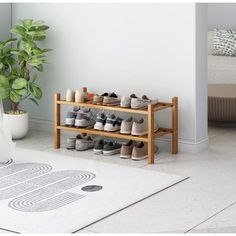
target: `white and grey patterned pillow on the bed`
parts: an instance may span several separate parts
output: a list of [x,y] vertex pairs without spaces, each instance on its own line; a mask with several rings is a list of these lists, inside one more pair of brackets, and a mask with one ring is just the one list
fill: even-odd
[[236,56],[236,31],[214,29],[213,55]]

